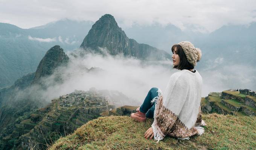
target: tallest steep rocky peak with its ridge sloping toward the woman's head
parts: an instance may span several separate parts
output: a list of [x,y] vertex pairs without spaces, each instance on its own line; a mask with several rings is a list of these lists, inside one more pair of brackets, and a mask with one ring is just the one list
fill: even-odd
[[122,28],[117,25],[114,17],[109,14],[102,16],[93,24],[80,47],[101,54],[104,52],[100,48],[107,48],[107,52],[111,55],[123,54],[143,60],[171,59],[171,55],[165,51],[129,39]]

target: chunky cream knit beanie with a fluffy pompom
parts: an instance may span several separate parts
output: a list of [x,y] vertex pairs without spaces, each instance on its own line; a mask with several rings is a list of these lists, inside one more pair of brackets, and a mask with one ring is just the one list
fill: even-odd
[[195,48],[194,45],[192,43],[190,43],[189,41],[182,41],[180,43],[178,43],[178,45],[180,45],[187,57],[187,61],[193,66],[195,67],[197,65],[197,62],[199,62],[199,60],[202,57],[202,51],[199,48]]

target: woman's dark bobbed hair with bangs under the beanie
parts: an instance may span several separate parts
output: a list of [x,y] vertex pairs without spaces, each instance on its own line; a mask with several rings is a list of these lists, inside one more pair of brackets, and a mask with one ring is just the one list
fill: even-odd
[[173,66],[173,68],[183,70],[183,69],[194,69],[194,67],[187,61],[187,57],[182,49],[182,47],[178,44],[172,46],[172,53],[174,53],[174,49],[177,48],[177,54],[180,57],[180,64],[178,66]]

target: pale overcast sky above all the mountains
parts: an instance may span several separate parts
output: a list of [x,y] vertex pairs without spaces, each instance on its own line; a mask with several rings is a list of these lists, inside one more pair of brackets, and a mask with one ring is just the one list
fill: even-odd
[[256,21],[256,0],[0,0],[0,22],[21,28],[69,18],[97,21],[109,13],[121,27],[174,24],[211,32]]

